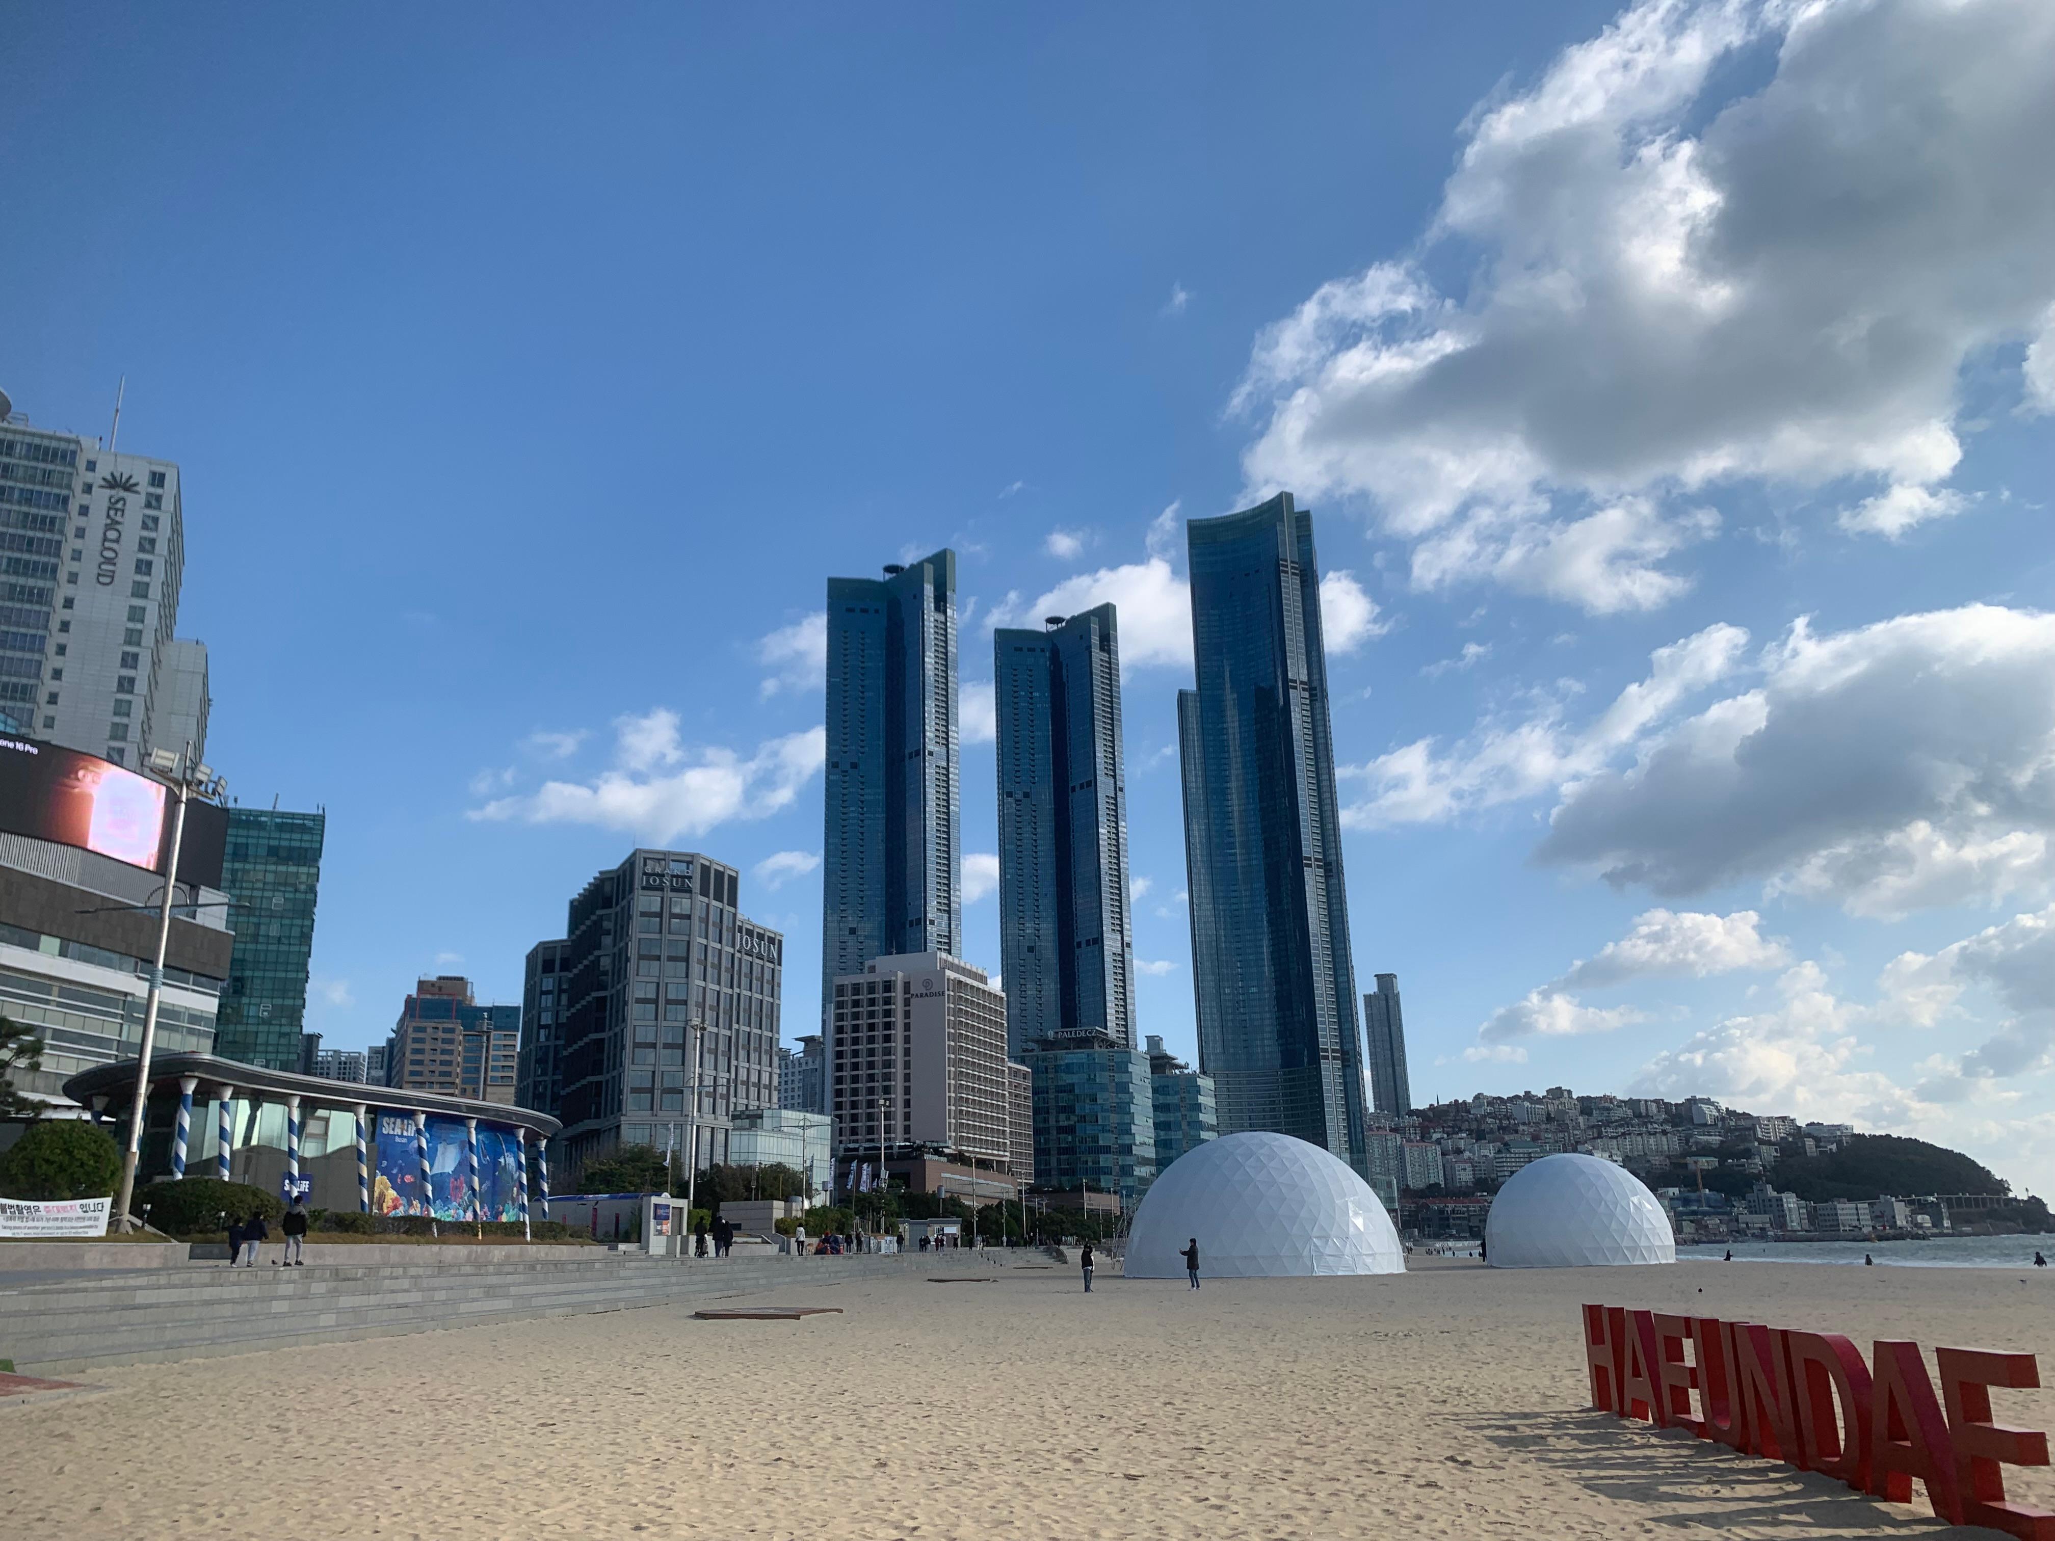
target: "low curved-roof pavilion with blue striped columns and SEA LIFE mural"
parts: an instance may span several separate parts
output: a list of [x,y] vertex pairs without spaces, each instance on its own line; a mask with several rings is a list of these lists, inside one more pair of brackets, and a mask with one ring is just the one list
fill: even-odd
[[[136,1060],[64,1083],[97,1120],[121,1122]],[[475,1097],[399,1091],[269,1070],[214,1054],[150,1060],[142,1181],[222,1177],[286,1192],[310,1208],[432,1214],[440,1220],[545,1216],[555,1118]]]

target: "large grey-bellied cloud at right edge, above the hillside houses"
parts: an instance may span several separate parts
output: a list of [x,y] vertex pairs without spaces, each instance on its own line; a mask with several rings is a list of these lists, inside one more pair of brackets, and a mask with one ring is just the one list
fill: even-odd
[[2055,614],[1965,606],[1815,637],[1564,789],[1543,863],[1691,894],[1745,877],[1897,916],[2055,877]]

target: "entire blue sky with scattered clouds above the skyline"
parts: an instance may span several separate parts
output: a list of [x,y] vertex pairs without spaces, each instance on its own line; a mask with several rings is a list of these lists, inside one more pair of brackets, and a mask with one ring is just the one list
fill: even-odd
[[1192,1052],[1178,520],[1291,487],[1416,1095],[2047,1186],[2045,6],[1418,10],[18,14],[0,384],[125,374],[183,466],[212,758],[331,816],[310,1025],[518,999],[645,840],[744,867],[804,1031],[810,616],[954,544],[968,717],[995,621],[1122,606]]

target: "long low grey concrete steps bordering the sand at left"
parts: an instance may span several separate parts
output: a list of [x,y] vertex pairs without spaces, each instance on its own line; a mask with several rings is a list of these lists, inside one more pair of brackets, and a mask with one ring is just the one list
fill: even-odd
[[[25,1375],[103,1364],[247,1354],[284,1344],[384,1338],[524,1317],[633,1311],[849,1278],[898,1276],[904,1255],[730,1257],[602,1255],[532,1262],[417,1262],[386,1268],[123,1270],[8,1286],[0,1276],[0,1358]],[[933,1272],[935,1260],[919,1260]]]

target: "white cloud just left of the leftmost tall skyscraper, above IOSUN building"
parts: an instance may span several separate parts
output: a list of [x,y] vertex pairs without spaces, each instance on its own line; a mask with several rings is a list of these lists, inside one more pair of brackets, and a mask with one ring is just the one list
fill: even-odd
[[538,791],[473,807],[466,818],[522,824],[594,824],[651,844],[705,834],[734,820],[787,807],[814,779],[826,731],[767,740],[742,758],[727,748],[686,748],[678,713],[656,709],[614,721],[614,766],[592,781],[549,781]]

